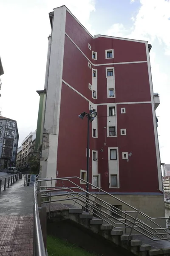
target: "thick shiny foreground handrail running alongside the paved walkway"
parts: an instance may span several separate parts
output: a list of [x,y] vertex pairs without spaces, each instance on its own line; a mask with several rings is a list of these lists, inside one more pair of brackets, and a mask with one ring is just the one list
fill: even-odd
[[42,237],[42,230],[41,230],[39,212],[38,212],[36,184],[37,183],[35,182],[34,183],[34,212],[33,212],[34,213],[34,230],[33,230],[34,245],[33,245],[33,251],[34,251],[34,256],[46,256],[44,241],[43,241],[43,237]]

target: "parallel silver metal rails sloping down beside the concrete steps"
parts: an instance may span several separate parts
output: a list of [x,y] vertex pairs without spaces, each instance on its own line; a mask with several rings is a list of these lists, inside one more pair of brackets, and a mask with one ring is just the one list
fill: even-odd
[[[53,202],[57,202],[57,201],[67,201],[67,200],[73,200],[74,202],[75,202],[75,200],[76,200],[76,202],[77,202],[77,201],[80,201],[80,202],[82,202],[82,203],[85,203],[85,201],[86,201],[86,196],[85,196],[84,194],[87,194],[87,192],[86,192],[85,189],[82,189],[82,187],[80,187],[79,185],[77,185],[76,183],[74,183],[73,181],[70,180],[70,179],[75,179],[75,178],[77,178],[77,179],[79,179],[79,180],[82,180],[82,179],[79,178],[79,177],[64,177],[64,178],[56,178],[56,179],[52,179],[52,178],[51,178],[51,179],[38,179],[37,182],[44,182],[44,181],[47,181],[47,182],[48,182],[48,181],[51,181],[51,182],[52,182],[52,180],[66,180],[66,181],[71,182],[73,185],[75,185],[75,186],[73,186],[73,187],[57,187],[57,189],[55,189],[56,187],[52,187],[52,186],[49,187],[49,186],[46,186],[46,188],[50,188],[51,191],[49,191],[49,189],[47,189],[47,190],[43,190],[43,192],[50,192],[50,193],[51,193],[51,192],[61,192],[62,190],[66,190],[66,189],[68,189],[68,190],[71,191],[70,193],[67,193],[67,195],[66,195],[66,194],[57,194],[57,195],[59,195],[59,196],[61,196],[61,197],[62,197],[62,196],[66,196],[67,198],[65,198],[65,199],[62,198],[62,199],[58,199],[58,200],[55,200],[55,201],[51,201],[51,197],[53,197],[53,196],[56,197],[56,196],[57,196],[57,195],[55,195],[55,194],[54,194],[54,195],[51,195],[50,201],[49,201],[50,204],[53,203]],[[82,181],[84,181],[84,180],[82,180]],[[89,183],[89,182],[88,182],[88,183]],[[129,227],[130,229],[133,228],[133,230],[136,230],[138,233],[141,233],[141,234],[143,234],[144,236],[147,236],[148,238],[150,238],[150,239],[152,239],[152,240],[155,240],[155,241],[156,241],[156,240],[165,240],[165,239],[168,239],[168,238],[165,238],[165,237],[163,236],[163,235],[170,234],[170,233],[167,232],[167,229],[168,229],[168,228],[161,227],[159,224],[157,224],[155,221],[153,221],[153,220],[166,219],[165,217],[151,218],[151,217],[147,216],[146,214],[144,214],[143,212],[141,212],[141,211],[139,211],[138,209],[136,209],[135,207],[132,207],[131,205],[127,204],[126,202],[120,200],[119,198],[116,198],[115,196],[109,194],[108,192],[105,192],[104,190],[102,190],[102,189],[100,189],[100,188],[98,188],[98,187],[92,185],[91,183],[89,183],[89,185],[95,187],[96,189],[99,189],[100,191],[104,192],[105,194],[111,196],[112,198],[114,198],[114,199],[116,199],[116,200],[122,202],[123,204],[125,204],[125,205],[127,205],[128,207],[130,207],[130,208],[132,208],[133,210],[135,210],[135,211],[126,212],[126,215],[125,215],[125,212],[123,212],[122,210],[119,209],[119,212],[118,212],[118,211],[115,210],[116,207],[115,207],[115,209],[113,209],[113,206],[112,206],[111,204],[106,203],[106,202],[103,201],[101,198],[97,198],[97,201],[98,201],[97,204],[98,204],[98,205],[102,206],[103,208],[105,208],[105,209],[107,209],[107,210],[109,209],[110,212],[113,212],[114,214],[116,214],[117,216],[121,217],[122,219],[116,218],[115,216],[112,216],[111,214],[108,214],[108,212],[105,212],[105,211],[103,211],[102,209],[97,209],[97,210],[96,210],[96,206],[94,205],[94,201],[89,198],[89,199],[88,199],[88,200],[89,200],[88,205],[89,205],[90,207],[92,206],[92,208],[95,209],[95,210],[100,214],[100,215],[97,215],[96,212],[95,212],[95,214],[96,214],[97,216],[99,216],[99,218],[102,218],[104,221],[106,221],[106,219],[108,219],[108,221],[106,221],[106,222],[107,222],[107,223],[112,223],[112,225],[113,225],[113,223],[116,224],[116,225],[124,224],[125,227],[116,227],[116,228],[125,228],[125,230],[126,230],[127,227]],[[73,189],[79,189],[81,192],[80,192],[80,193],[79,193],[79,192],[75,192]],[[96,198],[95,195],[93,195],[93,194],[91,194],[91,193],[89,193],[89,192],[88,192],[88,194],[89,194],[91,197]],[[78,198],[76,197],[76,195],[78,196]],[[70,196],[74,196],[74,198],[70,198]],[[43,197],[49,197],[49,195],[45,195],[45,196],[43,196]],[[80,198],[81,198],[81,199],[80,199]],[[99,204],[99,201],[100,201],[100,204]],[[48,203],[48,201],[42,202],[42,203]],[[77,203],[78,203],[78,202],[77,202]],[[78,203],[78,204],[81,205],[81,206],[83,206],[83,205],[80,204],[80,203]],[[84,206],[83,206],[83,207],[84,207]],[[85,207],[85,208],[86,208],[86,207]],[[93,212],[93,211],[92,211],[92,212]],[[139,218],[136,218],[136,217],[131,216],[131,215],[129,214],[130,212],[138,212],[138,214],[142,215],[144,218],[147,218],[147,220],[151,221],[154,225],[156,225],[156,226],[159,227],[159,228],[152,228],[152,227],[150,227],[148,224],[144,223],[144,222],[141,221]],[[120,214],[119,214],[119,213],[120,213]],[[128,218],[123,217],[123,216],[121,215],[121,213],[123,213],[123,214],[124,214],[125,216],[127,216]],[[102,214],[102,216],[104,216],[104,218],[101,217],[101,214]],[[110,218],[112,218],[112,219],[110,219]],[[116,222],[113,221],[113,220],[118,221],[118,223],[116,223]],[[125,222],[123,222],[123,220],[125,220]],[[128,222],[126,222],[126,221],[128,221]],[[135,222],[135,226],[134,226],[134,221],[136,221],[136,222]],[[115,227],[115,225],[113,225],[113,226]],[[140,230],[138,230],[138,229],[140,229]],[[142,230],[143,232],[142,232],[141,230]],[[157,230],[164,230],[165,233],[159,233]],[[155,232],[156,232],[156,233],[155,233]],[[146,233],[147,233],[148,235],[150,235],[151,237],[148,236]],[[156,236],[157,239],[154,239],[153,236]],[[161,238],[160,238],[160,236],[161,236]]]

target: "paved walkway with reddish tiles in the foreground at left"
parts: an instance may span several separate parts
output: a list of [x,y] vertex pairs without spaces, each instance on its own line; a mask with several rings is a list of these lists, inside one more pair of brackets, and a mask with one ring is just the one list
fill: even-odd
[[33,255],[33,187],[18,180],[0,195],[0,256]]

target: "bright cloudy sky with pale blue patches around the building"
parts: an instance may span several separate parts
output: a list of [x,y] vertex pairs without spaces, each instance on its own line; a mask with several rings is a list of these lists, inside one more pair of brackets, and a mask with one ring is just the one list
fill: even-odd
[[[81,3],[81,5],[80,5]],[[0,0],[1,115],[17,120],[20,142],[37,127],[39,95],[44,88],[48,12],[66,5],[92,35],[147,40],[161,162],[170,163],[170,1],[169,0]]]

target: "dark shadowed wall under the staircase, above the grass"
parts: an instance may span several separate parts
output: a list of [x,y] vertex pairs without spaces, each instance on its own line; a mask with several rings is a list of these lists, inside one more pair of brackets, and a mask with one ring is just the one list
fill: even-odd
[[47,234],[57,236],[71,244],[76,244],[89,252],[98,253],[102,256],[134,256],[122,247],[114,245],[71,220],[59,222],[48,220]]

